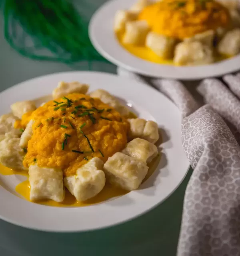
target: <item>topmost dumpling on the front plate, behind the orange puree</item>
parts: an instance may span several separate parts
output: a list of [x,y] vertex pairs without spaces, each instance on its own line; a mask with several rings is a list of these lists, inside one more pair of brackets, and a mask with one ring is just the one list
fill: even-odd
[[66,83],[63,81],[60,81],[58,83],[58,87],[56,87],[52,91],[52,97],[54,99],[63,97],[64,95],[67,95],[69,93],[83,93],[86,94],[88,91],[89,85],[79,83],[79,82],[72,82],[72,83]]

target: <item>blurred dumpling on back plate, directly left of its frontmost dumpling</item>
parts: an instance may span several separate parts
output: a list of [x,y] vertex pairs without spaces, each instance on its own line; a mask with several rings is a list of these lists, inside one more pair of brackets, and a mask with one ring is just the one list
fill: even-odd
[[161,58],[168,59],[172,56],[175,39],[165,37],[154,32],[149,32],[146,37],[146,46]]

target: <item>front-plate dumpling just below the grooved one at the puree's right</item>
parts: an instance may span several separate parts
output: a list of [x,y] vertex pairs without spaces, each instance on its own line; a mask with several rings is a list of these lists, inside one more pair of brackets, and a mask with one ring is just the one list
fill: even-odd
[[150,163],[158,154],[158,149],[153,143],[144,139],[136,138],[126,145],[122,150],[122,153],[137,160]]

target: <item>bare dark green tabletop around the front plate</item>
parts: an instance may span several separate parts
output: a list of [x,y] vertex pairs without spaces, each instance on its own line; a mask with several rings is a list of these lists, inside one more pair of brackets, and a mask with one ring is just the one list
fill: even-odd
[[[86,2],[88,4],[84,6],[84,14],[90,17],[104,0]],[[18,55],[4,39],[2,13],[0,56],[0,91],[33,77],[72,70],[62,63],[33,61]],[[79,67],[79,70],[86,69],[85,63]],[[96,63],[93,69],[116,73],[116,67],[110,64]],[[0,220],[0,256],[175,256],[184,192],[191,174],[192,170],[188,171],[178,189],[152,211],[132,221],[103,230],[56,234],[28,230]],[[31,213],[26,212],[26,218],[28,214]]]

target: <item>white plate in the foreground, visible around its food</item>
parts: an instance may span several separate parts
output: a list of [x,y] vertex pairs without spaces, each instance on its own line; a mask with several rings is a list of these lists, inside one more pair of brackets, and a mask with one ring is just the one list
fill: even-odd
[[28,202],[14,192],[22,176],[0,175],[0,218],[37,230],[80,232],[127,221],[164,201],[180,185],[189,168],[176,106],[160,92],[139,82],[106,73],[76,71],[38,77],[3,91],[0,114],[10,112],[10,104],[16,101],[49,95],[61,80],[88,83],[91,91],[106,89],[124,99],[140,117],[155,120],[164,130],[161,161],[140,189],[87,207],[51,207]]

